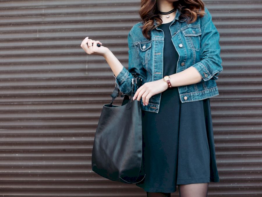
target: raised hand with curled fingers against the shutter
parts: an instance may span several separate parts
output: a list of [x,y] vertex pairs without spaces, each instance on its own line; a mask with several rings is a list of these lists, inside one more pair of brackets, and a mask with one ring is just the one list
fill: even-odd
[[[100,47],[98,47],[97,44],[100,44]],[[105,54],[109,51],[107,47],[102,46],[100,41],[91,40],[88,39],[88,37],[82,41],[80,46],[87,54],[105,56]]]

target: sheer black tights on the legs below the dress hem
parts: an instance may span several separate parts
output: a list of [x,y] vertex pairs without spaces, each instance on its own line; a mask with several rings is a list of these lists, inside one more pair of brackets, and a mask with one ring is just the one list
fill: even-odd
[[[180,197],[207,197],[208,183],[179,185]],[[171,193],[146,192],[147,197],[170,197]]]

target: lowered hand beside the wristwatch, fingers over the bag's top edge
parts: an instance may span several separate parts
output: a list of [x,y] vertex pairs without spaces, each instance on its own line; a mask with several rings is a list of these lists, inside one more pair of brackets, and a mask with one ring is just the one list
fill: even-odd
[[150,81],[140,86],[134,94],[133,100],[137,99],[140,101],[142,97],[143,105],[148,105],[148,101],[151,96],[161,93],[168,88],[167,82],[163,79]]

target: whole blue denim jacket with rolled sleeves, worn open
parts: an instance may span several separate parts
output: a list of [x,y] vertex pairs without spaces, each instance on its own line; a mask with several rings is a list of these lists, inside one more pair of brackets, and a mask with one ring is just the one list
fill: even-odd
[[[219,94],[215,82],[218,79],[218,74],[223,70],[219,33],[206,7],[205,12],[204,17],[198,16],[194,23],[187,24],[185,18],[178,19],[181,13],[177,9],[175,19],[169,27],[172,42],[179,55],[176,72],[181,72],[192,66],[201,75],[201,81],[198,83],[178,86],[182,103],[203,100]],[[154,24],[157,25],[155,20]],[[128,69],[123,67],[117,76],[113,74],[118,88],[127,95],[131,94],[132,79],[134,78],[132,73],[136,73],[142,79],[142,84],[164,77],[164,32],[156,27],[151,31],[151,39],[147,39],[142,34],[140,28],[142,25],[142,22],[138,22],[128,34]],[[137,88],[135,85],[134,93]],[[160,99],[161,93],[153,95],[149,99],[148,105],[143,106],[141,98],[141,109],[158,113]]]

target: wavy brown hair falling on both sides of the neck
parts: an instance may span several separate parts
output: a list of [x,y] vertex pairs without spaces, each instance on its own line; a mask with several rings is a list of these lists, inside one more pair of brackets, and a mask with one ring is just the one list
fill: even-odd
[[[157,0],[141,0],[139,15],[143,20],[142,33],[147,39],[151,39],[150,32],[155,27],[162,24],[162,19],[158,15]],[[181,12],[179,19],[185,19],[187,24],[197,20],[197,16],[203,17],[205,14],[205,4],[202,0],[178,0],[173,2],[174,8]],[[159,23],[154,26],[154,19]]]

